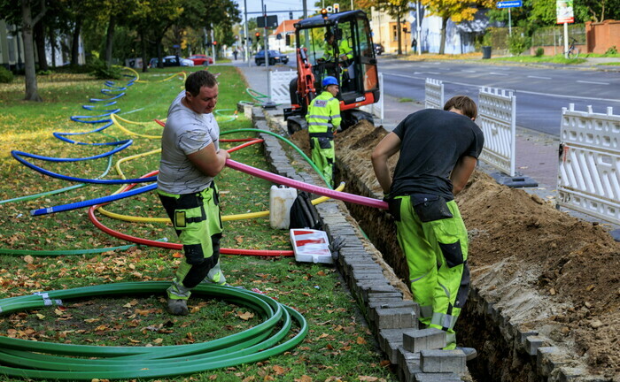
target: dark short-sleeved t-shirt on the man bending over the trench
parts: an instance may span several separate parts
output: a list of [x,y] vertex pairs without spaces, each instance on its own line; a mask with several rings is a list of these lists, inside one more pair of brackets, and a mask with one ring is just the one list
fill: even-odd
[[477,158],[484,145],[482,130],[470,118],[437,109],[410,114],[393,133],[401,142],[392,197],[431,194],[452,200],[454,164],[461,157]]

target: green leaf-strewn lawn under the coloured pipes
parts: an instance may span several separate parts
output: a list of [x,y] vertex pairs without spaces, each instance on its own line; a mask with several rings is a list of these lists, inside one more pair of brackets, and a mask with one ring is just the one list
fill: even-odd
[[[247,85],[242,76],[232,66],[212,66],[209,70],[220,73],[217,115],[221,131],[252,128],[252,121],[242,114],[238,118],[233,114],[237,102],[251,98],[245,93]],[[148,246],[111,249],[130,243],[100,231],[90,222],[88,208],[30,215],[30,210],[112,195],[120,190],[120,185],[80,187],[80,181],[52,178],[20,164],[11,151],[44,157],[85,158],[103,155],[115,146],[82,143],[132,140],[132,144],[114,154],[112,160],[108,157],[76,162],[26,159],[47,171],[79,179],[97,179],[105,173],[103,179],[136,179],[157,170],[158,136],[162,127],[153,119],[166,118],[169,103],[182,90],[182,74],[174,75],[177,71],[166,68],[140,73],[140,80],[122,90],[125,95],[118,98],[116,104],[105,107],[89,102],[91,98],[108,97],[101,92],[102,88],[108,88],[105,81],[85,74],[40,76],[43,103],[22,101],[23,78],[17,78],[10,85],[0,85],[3,105],[0,173],[4,180],[0,185],[0,213],[4,216],[0,219],[0,299],[5,301],[15,296],[76,287],[171,279],[176,265],[182,261],[179,251]],[[127,84],[125,80],[115,82],[116,86],[124,84]],[[84,104],[97,107],[89,111],[82,108]],[[123,128],[112,125],[95,132],[105,124],[75,122],[70,118],[97,116],[116,108],[120,108],[121,118],[132,123],[120,122]],[[80,144],[61,141],[54,133]],[[248,136],[249,133],[235,133],[222,135],[222,138]],[[230,149],[237,144],[222,142],[221,147]],[[260,144],[238,150],[231,157],[237,162],[267,169]],[[268,210],[270,182],[228,168],[216,181],[221,190],[224,216]],[[54,195],[7,202],[69,186],[77,187]],[[143,239],[176,241],[171,225],[159,221],[165,220],[165,212],[153,192],[112,202],[105,210],[129,217],[110,218],[96,211],[97,219],[113,230]],[[221,244],[223,248],[291,249],[288,231],[272,229],[268,218],[225,221]],[[58,251],[65,254],[58,255]],[[68,251],[81,252],[67,255]],[[334,267],[298,264],[288,256],[222,255],[221,263],[231,285],[255,289],[300,312],[308,323],[305,340],[261,362],[156,380],[398,380],[387,366],[385,355],[377,350],[356,302]],[[115,297],[102,295],[69,300],[63,309],[50,306],[5,313],[0,315],[0,336],[75,345],[171,347],[226,337],[258,325],[262,320],[260,314],[238,301],[201,297],[190,299],[190,316],[173,317],[165,309],[163,293],[132,292],[135,291],[128,290],[126,295]],[[0,300],[0,306],[2,303]],[[293,325],[289,337],[298,329]],[[0,366],[3,365],[0,357]],[[2,376],[2,373],[0,379],[24,380]]]

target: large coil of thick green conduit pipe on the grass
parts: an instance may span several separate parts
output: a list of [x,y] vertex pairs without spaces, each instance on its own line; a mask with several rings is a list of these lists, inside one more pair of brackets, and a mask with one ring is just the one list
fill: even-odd
[[[0,300],[0,313],[41,309],[63,299],[163,294],[169,284],[115,283],[12,297]],[[192,294],[243,305],[257,311],[263,322],[217,340],[167,347],[103,347],[0,337],[0,375],[58,380],[164,378],[258,362],[283,354],[306,338],[306,319],[264,294],[207,284],[199,284]]]

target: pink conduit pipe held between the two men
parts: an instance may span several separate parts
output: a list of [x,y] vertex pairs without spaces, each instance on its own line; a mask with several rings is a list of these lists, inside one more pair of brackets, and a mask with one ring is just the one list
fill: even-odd
[[368,207],[376,207],[381,210],[388,209],[387,202],[384,202],[378,199],[373,199],[373,198],[369,198],[367,196],[361,196],[361,195],[353,195],[353,194],[345,193],[342,191],[334,191],[329,188],[310,185],[304,182],[300,182],[298,180],[291,180],[289,178],[283,177],[281,175],[277,175],[275,173],[266,172],[264,170],[257,169],[247,164],[241,164],[239,162],[235,162],[232,159],[227,159],[226,165],[229,166],[231,169],[235,169],[240,172],[245,172],[250,175],[254,175],[256,177],[259,177],[260,179],[269,180],[274,183],[281,184],[281,185],[288,186],[288,187],[297,188],[302,191],[310,192],[312,194],[329,196],[332,199],[341,200],[343,202],[353,202],[355,204],[362,204]]

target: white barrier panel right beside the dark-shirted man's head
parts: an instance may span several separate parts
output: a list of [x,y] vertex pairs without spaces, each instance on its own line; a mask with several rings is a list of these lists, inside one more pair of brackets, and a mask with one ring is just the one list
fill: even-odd
[[515,113],[513,92],[499,88],[481,88],[478,93],[478,125],[484,134],[480,159],[515,176]]

